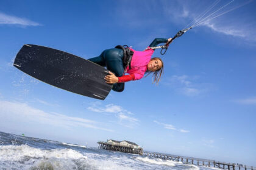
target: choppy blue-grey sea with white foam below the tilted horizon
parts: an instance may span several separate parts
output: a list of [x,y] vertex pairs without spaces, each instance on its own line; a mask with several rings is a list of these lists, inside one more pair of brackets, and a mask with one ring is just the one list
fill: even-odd
[[0,132],[0,169],[216,169]]

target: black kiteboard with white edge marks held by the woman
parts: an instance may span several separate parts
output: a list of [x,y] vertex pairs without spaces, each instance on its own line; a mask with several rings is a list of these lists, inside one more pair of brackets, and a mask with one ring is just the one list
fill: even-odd
[[13,66],[63,90],[104,100],[113,84],[105,82],[108,70],[96,63],[57,49],[24,44]]

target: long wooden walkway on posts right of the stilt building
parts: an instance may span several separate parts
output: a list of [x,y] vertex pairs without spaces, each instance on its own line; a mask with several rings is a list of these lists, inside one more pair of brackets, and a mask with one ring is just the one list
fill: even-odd
[[172,160],[172,161],[182,161],[185,164],[193,164],[197,166],[207,166],[212,168],[219,168],[219,169],[232,169],[232,170],[256,170],[253,166],[246,166],[241,165],[238,163],[226,163],[222,161],[215,161],[215,160],[207,160],[202,158],[193,158],[193,157],[183,157],[171,154],[160,154],[157,152],[143,152],[144,157],[149,158],[160,158],[163,160]]

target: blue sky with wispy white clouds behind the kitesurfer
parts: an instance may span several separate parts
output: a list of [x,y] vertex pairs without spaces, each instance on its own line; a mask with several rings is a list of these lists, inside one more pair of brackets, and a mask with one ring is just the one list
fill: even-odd
[[[256,1],[220,1],[210,21],[174,40],[159,85],[127,82],[104,101],[40,82],[12,66],[23,44],[91,58],[173,37],[215,1],[0,1],[0,131],[97,147],[256,166]],[[228,13],[225,13],[228,12]],[[207,15],[205,15],[207,16]]]

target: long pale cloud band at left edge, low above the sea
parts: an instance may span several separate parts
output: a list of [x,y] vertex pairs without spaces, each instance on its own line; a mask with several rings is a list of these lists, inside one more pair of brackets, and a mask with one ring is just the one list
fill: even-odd
[[98,127],[98,122],[90,119],[66,116],[60,113],[47,113],[21,102],[0,101],[0,116],[2,116],[2,119],[8,118],[12,121],[32,121],[39,124],[65,127],[67,129],[71,129],[72,127],[87,127],[113,132],[113,130]]

